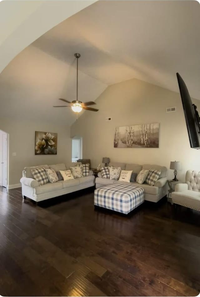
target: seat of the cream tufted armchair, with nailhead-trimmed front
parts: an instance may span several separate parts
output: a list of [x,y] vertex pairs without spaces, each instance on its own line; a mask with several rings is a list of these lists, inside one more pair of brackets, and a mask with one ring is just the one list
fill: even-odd
[[200,210],[200,193],[196,191],[173,192],[172,201]]

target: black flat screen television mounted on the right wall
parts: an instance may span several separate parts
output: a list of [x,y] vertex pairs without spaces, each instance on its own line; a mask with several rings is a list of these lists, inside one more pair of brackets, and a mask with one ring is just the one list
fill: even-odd
[[197,111],[197,106],[192,104],[186,84],[179,73],[176,74],[178,79],[178,86],[181,94],[183,111],[187,126],[187,132],[192,149],[200,149],[200,118]]

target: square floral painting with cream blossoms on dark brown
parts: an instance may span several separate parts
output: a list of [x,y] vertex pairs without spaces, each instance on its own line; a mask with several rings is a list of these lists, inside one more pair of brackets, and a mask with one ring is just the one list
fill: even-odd
[[35,155],[57,155],[57,133],[35,131]]

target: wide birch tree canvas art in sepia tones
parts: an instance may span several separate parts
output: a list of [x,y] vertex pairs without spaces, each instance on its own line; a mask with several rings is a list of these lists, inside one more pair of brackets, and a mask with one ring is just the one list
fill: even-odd
[[158,148],[159,123],[114,128],[114,148]]

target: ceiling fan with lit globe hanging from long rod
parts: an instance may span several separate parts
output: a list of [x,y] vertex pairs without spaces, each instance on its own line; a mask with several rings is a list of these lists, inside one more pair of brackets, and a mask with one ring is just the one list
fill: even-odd
[[59,105],[59,106],[53,106],[53,107],[71,107],[75,113],[80,113],[82,111],[82,109],[86,109],[86,110],[90,110],[90,111],[98,111],[98,109],[96,109],[96,108],[88,107],[89,105],[96,104],[95,102],[89,101],[89,102],[83,103],[78,100],[78,58],[80,58],[81,55],[79,53],[75,53],[74,56],[77,58],[76,100],[70,102],[66,99],[59,98],[59,100],[69,103],[70,105]]

